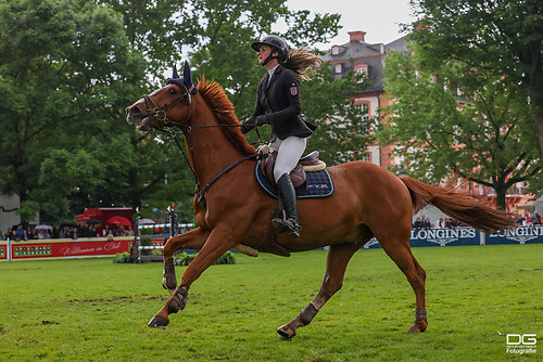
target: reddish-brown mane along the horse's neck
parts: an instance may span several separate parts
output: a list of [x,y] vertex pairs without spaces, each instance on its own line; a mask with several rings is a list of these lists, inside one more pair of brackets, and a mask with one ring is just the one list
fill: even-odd
[[[239,125],[238,117],[233,112],[233,104],[230,102],[220,87],[214,80],[207,80],[204,76],[198,81],[198,92],[207,103],[219,125]],[[238,148],[243,155],[252,155],[256,153],[254,147],[247,142],[245,137],[241,133],[240,127],[223,127],[226,138]]]

